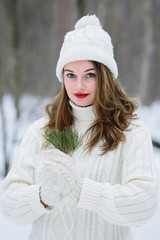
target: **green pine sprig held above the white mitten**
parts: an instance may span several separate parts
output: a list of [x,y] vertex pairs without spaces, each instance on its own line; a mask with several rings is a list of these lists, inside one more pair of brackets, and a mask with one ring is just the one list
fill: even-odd
[[82,144],[82,136],[78,136],[76,130],[71,130],[65,127],[60,131],[55,129],[52,131],[50,128],[44,130],[44,138],[50,142],[55,148],[66,154],[72,154]]

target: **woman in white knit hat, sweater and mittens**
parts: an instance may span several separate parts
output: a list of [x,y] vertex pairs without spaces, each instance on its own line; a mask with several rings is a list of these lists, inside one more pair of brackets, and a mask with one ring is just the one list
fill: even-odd
[[[96,16],[66,34],[56,74],[61,92],[26,132],[1,185],[2,209],[32,223],[31,240],[131,240],[130,227],[145,223],[157,204],[153,150]],[[46,136],[68,129],[81,140],[66,153]]]

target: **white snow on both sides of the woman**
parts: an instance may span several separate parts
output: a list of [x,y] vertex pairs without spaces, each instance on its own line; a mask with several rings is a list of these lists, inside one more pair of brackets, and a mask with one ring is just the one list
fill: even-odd
[[[20,101],[20,118],[16,120],[14,101],[10,95],[5,95],[0,106],[1,116],[6,123],[6,152],[10,164],[16,157],[19,142],[28,128],[36,119],[44,115],[44,108],[49,99],[35,98],[23,95]],[[154,102],[151,106],[140,106],[138,114],[149,127],[151,136],[160,142],[160,102]],[[4,172],[3,161],[3,132],[2,120],[0,119],[0,176]],[[160,149],[154,148],[157,171],[160,170]],[[2,180],[2,177],[1,177]],[[133,228],[135,240],[159,240],[160,239],[160,206],[158,206],[154,217],[139,228]],[[7,219],[0,210],[0,239],[1,240],[27,240],[31,231],[31,225],[18,225]]]

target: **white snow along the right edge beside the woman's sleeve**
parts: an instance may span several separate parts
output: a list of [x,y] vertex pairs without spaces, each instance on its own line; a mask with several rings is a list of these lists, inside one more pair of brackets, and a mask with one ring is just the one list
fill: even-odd
[[[154,102],[149,107],[140,106],[138,111],[141,119],[148,126],[152,139],[160,142],[160,102]],[[154,156],[157,165],[157,173],[160,173],[160,149],[154,148]],[[160,185],[159,185],[160,201]],[[135,240],[159,240],[160,239],[160,204],[153,218],[142,227],[133,228],[132,232]]]

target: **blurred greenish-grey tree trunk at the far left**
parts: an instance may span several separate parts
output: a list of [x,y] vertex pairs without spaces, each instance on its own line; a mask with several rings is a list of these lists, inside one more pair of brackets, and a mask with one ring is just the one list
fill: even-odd
[[13,93],[17,118],[19,118],[19,96],[20,96],[20,63],[19,63],[19,32],[17,0],[3,1],[5,23],[4,23],[4,63],[3,77]]

